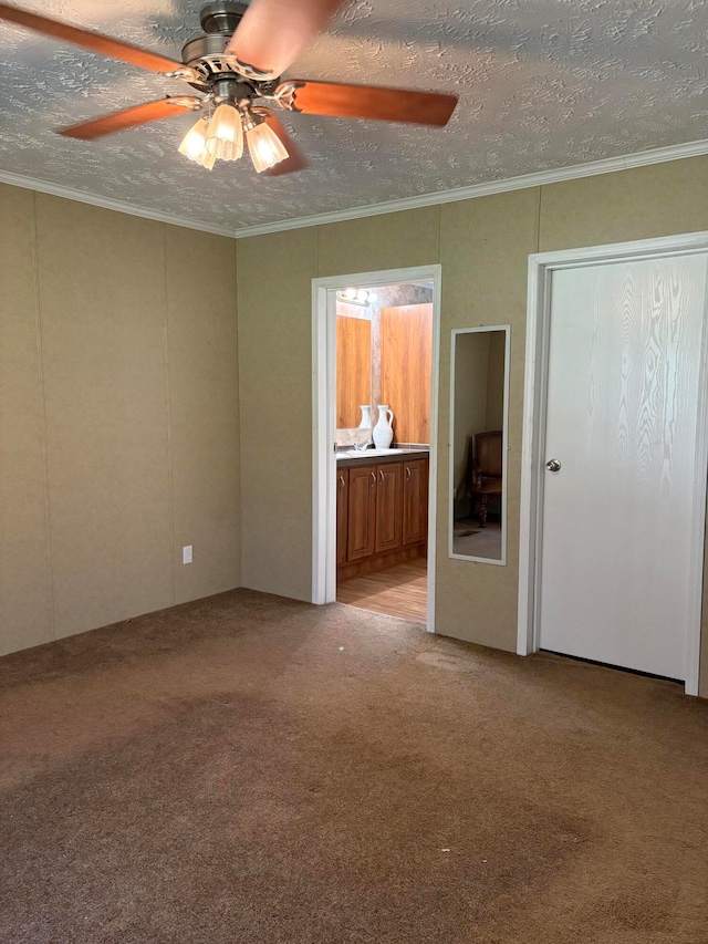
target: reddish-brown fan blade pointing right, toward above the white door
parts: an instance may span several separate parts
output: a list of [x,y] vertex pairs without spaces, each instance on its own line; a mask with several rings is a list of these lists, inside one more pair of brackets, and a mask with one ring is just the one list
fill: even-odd
[[275,97],[282,107],[306,115],[410,122],[440,127],[448,123],[457,105],[457,95],[301,79],[282,82],[275,90]]

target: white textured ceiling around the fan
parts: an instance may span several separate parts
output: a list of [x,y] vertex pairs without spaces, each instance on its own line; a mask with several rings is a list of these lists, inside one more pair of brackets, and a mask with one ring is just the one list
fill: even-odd
[[[195,0],[25,0],[179,59]],[[454,92],[445,129],[280,113],[311,167],[211,172],[189,113],[94,143],[53,134],[180,82],[0,25],[0,170],[240,229],[708,137],[706,0],[352,0],[287,73]]]

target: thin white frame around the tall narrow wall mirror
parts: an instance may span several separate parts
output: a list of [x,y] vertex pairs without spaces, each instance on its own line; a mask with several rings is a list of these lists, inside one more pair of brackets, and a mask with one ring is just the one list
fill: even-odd
[[[503,425],[502,425],[502,452],[501,452],[501,558],[471,557],[469,554],[455,553],[455,353],[457,338],[460,334],[481,334],[490,331],[504,332],[504,390],[503,390]],[[509,376],[511,373],[511,325],[510,324],[480,324],[477,328],[454,328],[450,335],[450,423],[449,423],[449,447],[448,447],[448,557],[454,560],[467,560],[476,563],[490,563],[496,567],[507,566],[507,535],[509,521],[507,514],[507,496],[509,494]]]

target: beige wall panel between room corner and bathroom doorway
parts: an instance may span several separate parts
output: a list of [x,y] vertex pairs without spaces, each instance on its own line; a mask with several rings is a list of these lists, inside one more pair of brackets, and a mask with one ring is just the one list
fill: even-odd
[[[312,279],[317,230],[239,241],[241,579],[312,593]],[[241,350],[242,349],[242,350]]]

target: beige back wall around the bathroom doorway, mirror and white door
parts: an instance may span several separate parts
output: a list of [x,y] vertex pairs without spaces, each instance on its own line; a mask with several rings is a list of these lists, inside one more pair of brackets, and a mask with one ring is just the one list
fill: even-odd
[[[240,241],[244,584],[310,599],[312,278],[440,262],[437,629],[513,651],[528,256],[702,229],[708,158],[696,157]],[[504,568],[447,557],[449,334],[480,324],[511,324]],[[704,636],[708,695],[708,623]]]

